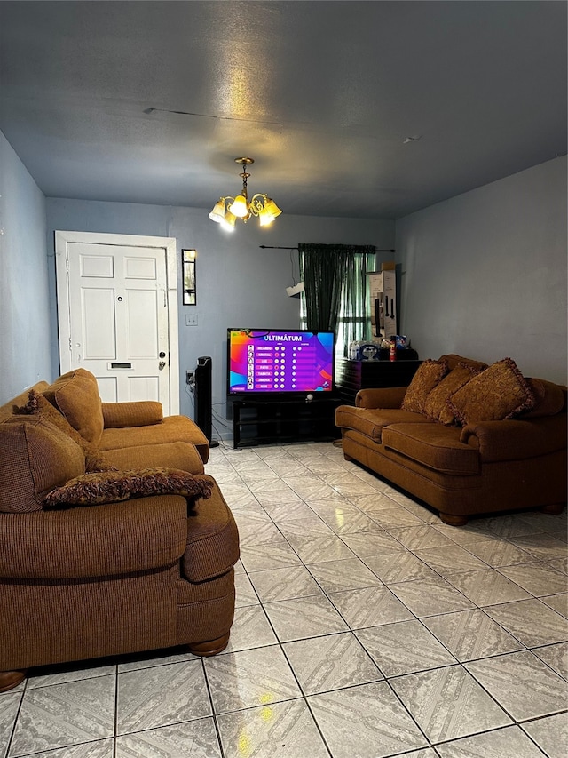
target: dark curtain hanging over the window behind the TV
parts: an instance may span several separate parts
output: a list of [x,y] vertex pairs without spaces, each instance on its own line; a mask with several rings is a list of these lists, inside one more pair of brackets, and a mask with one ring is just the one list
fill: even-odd
[[306,329],[337,333],[342,315],[345,336],[355,339],[351,334],[361,331],[365,318],[366,275],[374,270],[375,247],[299,243],[298,252]]

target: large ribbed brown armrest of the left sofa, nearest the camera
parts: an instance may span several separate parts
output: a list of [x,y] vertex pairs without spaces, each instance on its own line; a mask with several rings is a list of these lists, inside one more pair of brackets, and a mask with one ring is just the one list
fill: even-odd
[[184,555],[187,502],[160,495],[0,515],[0,577],[82,579],[171,566]]

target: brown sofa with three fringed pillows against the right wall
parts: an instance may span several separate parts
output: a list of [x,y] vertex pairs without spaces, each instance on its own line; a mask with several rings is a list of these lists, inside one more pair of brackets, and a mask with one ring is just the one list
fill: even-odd
[[488,367],[442,355],[423,363],[409,387],[360,390],[355,406],[336,409],[335,424],[345,459],[437,509],[445,523],[565,505],[566,387],[525,379],[509,358]]

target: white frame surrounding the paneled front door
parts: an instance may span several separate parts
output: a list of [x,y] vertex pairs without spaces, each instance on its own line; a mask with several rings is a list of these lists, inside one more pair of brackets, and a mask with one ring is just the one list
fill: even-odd
[[66,349],[71,334],[71,311],[67,275],[67,244],[89,243],[150,247],[166,252],[166,293],[168,298],[168,339],[170,345],[170,408],[164,414],[179,413],[179,337],[177,328],[177,239],[144,235],[113,235],[99,232],[55,232],[55,270],[57,321],[59,336],[59,371],[71,371],[70,351]]

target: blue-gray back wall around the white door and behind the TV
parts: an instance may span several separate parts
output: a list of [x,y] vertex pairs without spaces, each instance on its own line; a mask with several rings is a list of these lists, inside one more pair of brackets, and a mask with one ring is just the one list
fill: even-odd
[[[210,209],[209,209],[210,210]],[[53,232],[105,232],[170,236],[182,248],[197,250],[197,306],[179,305],[180,411],[193,417],[193,396],[185,385],[185,371],[193,371],[200,355],[210,355],[213,366],[214,437],[230,436],[226,422],[226,329],[228,326],[297,328],[299,299],[288,298],[286,287],[297,283],[297,251],[261,250],[260,244],[297,243],[375,244],[394,247],[394,221],[322,219],[283,213],[272,227],[260,228],[255,219],[226,233],[208,218],[209,210],[171,208],[130,203],[48,198],[47,227],[50,251]],[[392,254],[379,256],[392,259]],[[178,263],[181,299],[181,263]],[[51,272],[51,340],[57,364],[57,322],[54,268]],[[185,314],[197,315],[197,326],[185,325]]]

